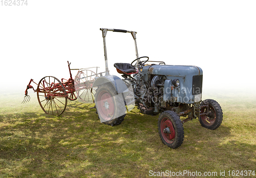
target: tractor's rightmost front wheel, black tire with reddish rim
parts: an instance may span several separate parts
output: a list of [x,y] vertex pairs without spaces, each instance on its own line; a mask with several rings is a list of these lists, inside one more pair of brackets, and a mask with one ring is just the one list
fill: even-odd
[[[214,130],[218,128],[223,119],[223,112],[220,104],[212,99],[206,99],[201,103],[201,106],[205,104],[209,104],[209,112],[207,115],[202,115],[199,117],[200,124],[208,129]],[[206,112],[206,107],[201,109],[201,114]]]

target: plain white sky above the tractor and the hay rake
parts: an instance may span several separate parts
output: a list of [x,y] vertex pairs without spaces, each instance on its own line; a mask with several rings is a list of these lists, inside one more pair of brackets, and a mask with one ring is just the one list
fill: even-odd
[[[203,90],[255,90],[256,1],[27,1],[0,5],[1,95],[24,94],[31,78],[68,79],[67,60],[104,72],[100,28],[137,31],[139,56],[200,66]],[[130,33],[108,32],[106,48],[112,75],[136,58]]]

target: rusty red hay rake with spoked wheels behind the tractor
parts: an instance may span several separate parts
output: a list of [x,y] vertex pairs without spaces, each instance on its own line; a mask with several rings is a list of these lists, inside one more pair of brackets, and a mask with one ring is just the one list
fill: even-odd
[[[81,102],[94,102],[95,89],[92,85],[95,78],[102,76],[102,73],[97,74],[98,67],[94,67],[96,68],[96,73],[89,70],[91,68],[70,69],[70,64],[68,61],[70,72],[68,80],[62,78],[60,81],[56,77],[46,76],[37,84],[31,79],[25,90],[22,103],[30,101],[30,96],[28,95],[30,88],[36,92],[37,100],[42,110],[46,114],[53,116],[59,116],[65,111],[68,100],[74,101],[79,98]],[[78,70],[74,79],[72,78],[71,70]],[[32,82],[37,85],[36,89],[31,85]]]

